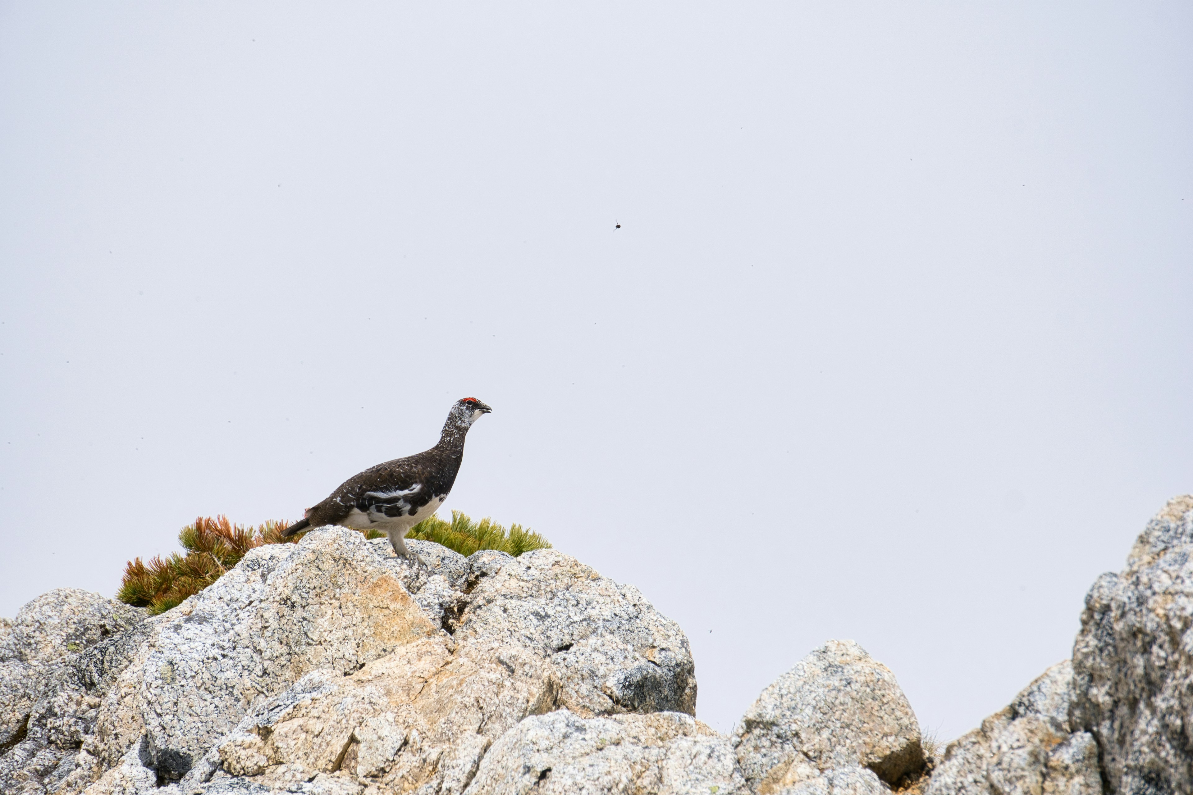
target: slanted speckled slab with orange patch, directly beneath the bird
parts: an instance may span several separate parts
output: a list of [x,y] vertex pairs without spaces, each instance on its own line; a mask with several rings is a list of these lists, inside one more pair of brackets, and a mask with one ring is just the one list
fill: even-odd
[[142,756],[167,782],[177,781],[258,698],[308,671],[350,673],[440,634],[403,586],[402,569],[410,567],[392,552],[385,557],[342,528],[253,549],[214,585],[152,621],[84,750],[106,768],[144,737]]

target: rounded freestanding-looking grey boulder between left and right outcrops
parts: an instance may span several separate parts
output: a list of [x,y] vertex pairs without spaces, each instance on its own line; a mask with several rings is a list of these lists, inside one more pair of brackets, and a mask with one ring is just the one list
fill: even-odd
[[734,744],[759,793],[851,766],[895,783],[925,763],[919,721],[895,675],[852,640],[830,640],[766,688]]

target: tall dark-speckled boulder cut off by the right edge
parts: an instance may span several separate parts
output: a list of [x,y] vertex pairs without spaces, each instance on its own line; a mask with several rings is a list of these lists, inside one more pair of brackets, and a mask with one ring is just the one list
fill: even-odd
[[1193,791],[1193,496],[1139,535],[1086,596],[1073,648],[1075,728],[1101,749],[1111,793]]

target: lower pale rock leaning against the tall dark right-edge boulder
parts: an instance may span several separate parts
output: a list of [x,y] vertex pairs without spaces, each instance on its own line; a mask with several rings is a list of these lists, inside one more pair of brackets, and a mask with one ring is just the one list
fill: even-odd
[[927,795],[1101,795],[1094,739],[1069,722],[1073,697],[1065,660],[950,743]]

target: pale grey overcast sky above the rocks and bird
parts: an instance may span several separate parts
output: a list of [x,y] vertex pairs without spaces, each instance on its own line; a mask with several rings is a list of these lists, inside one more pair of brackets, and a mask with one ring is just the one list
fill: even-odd
[[[446,509],[921,723],[1193,491],[1188,4],[0,4],[0,615],[494,411]],[[622,228],[614,224],[620,222]]]

